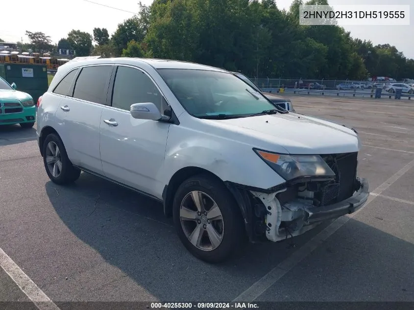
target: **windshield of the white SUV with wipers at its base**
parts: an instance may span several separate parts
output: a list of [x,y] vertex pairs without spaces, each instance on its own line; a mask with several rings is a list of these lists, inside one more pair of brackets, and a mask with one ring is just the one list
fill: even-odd
[[243,117],[275,108],[231,73],[190,69],[159,69],[158,72],[183,107],[195,117]]

